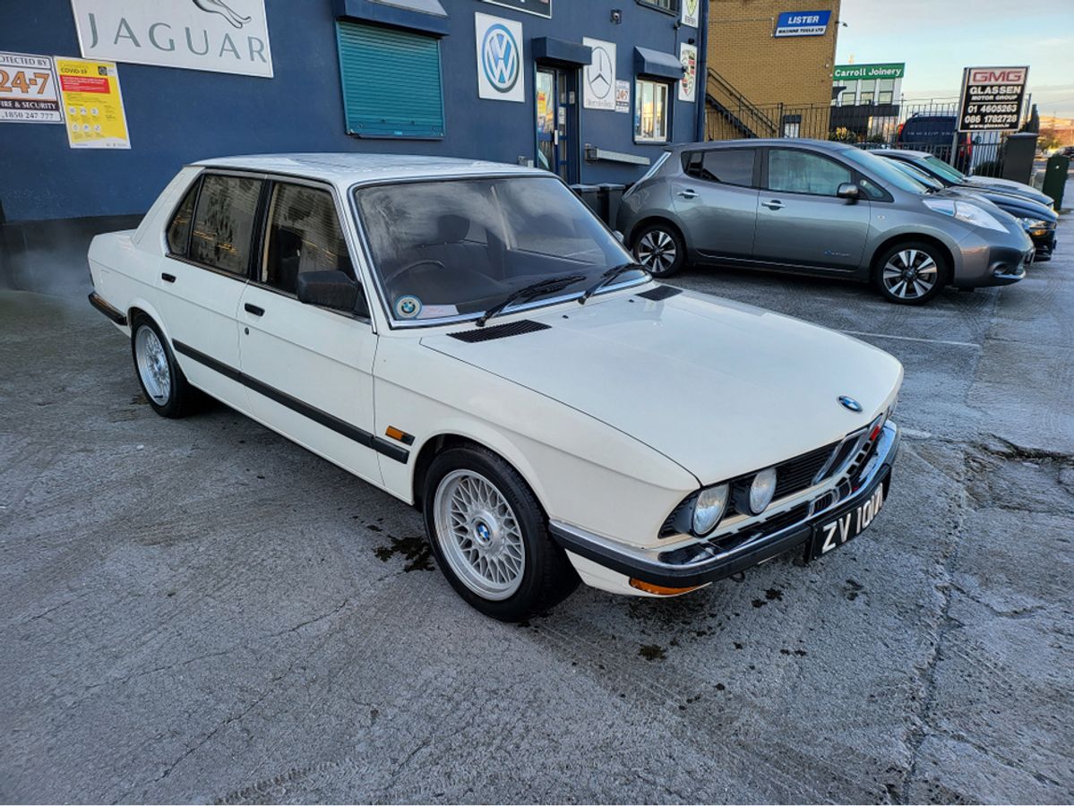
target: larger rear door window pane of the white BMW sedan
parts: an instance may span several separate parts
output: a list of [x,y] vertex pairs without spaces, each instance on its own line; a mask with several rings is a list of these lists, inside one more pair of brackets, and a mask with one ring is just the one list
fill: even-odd
[[209,174],[202,179],[190,234],[190,260],[246,276],[261,186],[261,179],[244,176]]

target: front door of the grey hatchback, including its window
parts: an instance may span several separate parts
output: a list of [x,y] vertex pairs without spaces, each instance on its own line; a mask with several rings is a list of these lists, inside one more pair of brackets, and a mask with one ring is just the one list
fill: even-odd
[[771,263],[853,269],[869,235],[870,204],[837,195],[855,172],[803,148],[770,148],[757,208],[754,258]]

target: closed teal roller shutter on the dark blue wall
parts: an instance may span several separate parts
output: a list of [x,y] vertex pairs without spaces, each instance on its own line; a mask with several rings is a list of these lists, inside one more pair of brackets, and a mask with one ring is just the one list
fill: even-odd
[[347,133],[444,136],[440,41],[412,31],[336,23]]

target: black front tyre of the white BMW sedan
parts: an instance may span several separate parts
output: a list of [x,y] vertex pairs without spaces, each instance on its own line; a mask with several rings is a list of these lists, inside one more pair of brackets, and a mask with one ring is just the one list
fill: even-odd
[[[479,551],[475,538],[460,539],[451,531],[438,534],[436,513],[438,507],[441,507],[441,501],[438,500],[437,492],[442,485],[444,499],[450,503],[452,485],[475,478],[493,485],[506,505],[510,508],[509,515],[513,514],[511,528],[520,532],[520,536],[516,534],[511,539],[518,541],[521,537],[524,562],[521,574],[510,583],[517,586],[512,588],[513,592],[508,596],[506,591],[500,591],[499,595],[506,598],[490,598],[491,595],[481,593],[474,588],[473,582],[468,583],[463,578],[467,573],[480,575],[476,565],[471,565],[468,572],[465,569],[463,572],[456,572],[453,567],[452,562],[466,562],[464,556],[466,549],[461,548],[464,542],[468,541],[470,552]],[[425,474],[422,499],[425,533],[437,565],[459,596],[484,615],[500,621],[520,621],[560,603],[578,586],[578,574],[567,555],[549,536],[548,519],[533,490],[514,468],[491,451],[465,446],[451,448],[440,453],[433,459]],[[460,528],[467,532],[476,532],[476,528]],[[489,533],[488,528],[485,533]],[[499,539],[498,529],[497,534],[488,541],[487,545],[490,548],[497,547],[492,542],[495,539]],[[451,560],[445,553],[446,548],[451,554]]]

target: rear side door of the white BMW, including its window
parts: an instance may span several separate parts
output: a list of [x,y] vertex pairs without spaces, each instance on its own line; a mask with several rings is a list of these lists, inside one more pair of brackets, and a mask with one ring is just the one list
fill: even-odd
[[235,316],[263,185],[259,176],[202,174],[169,223],[156,280],[164,328],[187,379],[243,410]]

